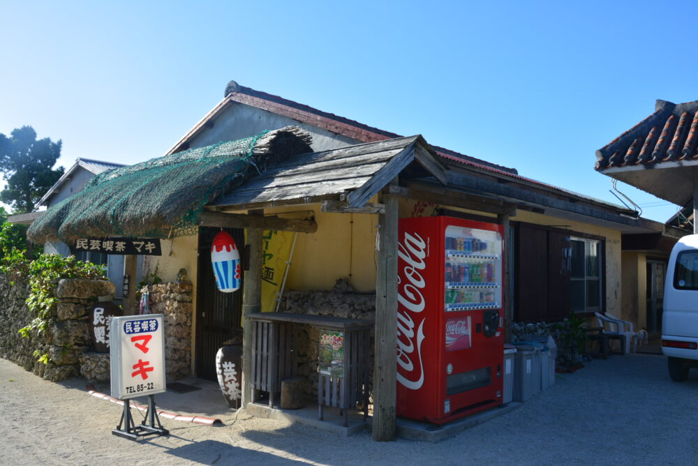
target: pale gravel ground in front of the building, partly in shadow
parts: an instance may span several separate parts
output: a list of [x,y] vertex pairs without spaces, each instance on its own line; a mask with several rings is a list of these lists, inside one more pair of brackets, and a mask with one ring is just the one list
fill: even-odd
[[382,463],[400,465],[698,463],[698,371],[671,382],[662,356],[612,356],[558,377],[518,409],[438,444],[348,439],[244,414],[223,427],[163,419],[170,437],[114,437],[120,407],[84,381],[45,382],[0,359],[6,465]]

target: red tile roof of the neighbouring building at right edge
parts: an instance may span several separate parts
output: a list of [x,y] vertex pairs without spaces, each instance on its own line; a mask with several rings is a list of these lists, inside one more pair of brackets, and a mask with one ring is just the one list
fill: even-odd
[[697,142],[698,100],[657,100],[653,114],[596,151],[596,170],[698,160]]

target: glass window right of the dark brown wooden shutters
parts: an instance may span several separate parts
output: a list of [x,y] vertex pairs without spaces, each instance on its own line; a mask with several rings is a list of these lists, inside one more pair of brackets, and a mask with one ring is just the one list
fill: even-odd
[[601,309],[601,243],[572,237],[570,308],[575,312]]

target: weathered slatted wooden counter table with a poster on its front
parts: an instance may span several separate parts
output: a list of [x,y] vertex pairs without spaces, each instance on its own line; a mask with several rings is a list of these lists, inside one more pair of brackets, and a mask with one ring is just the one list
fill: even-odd
[[[344,363],[341,375],[318,374],[318,416],[325,405],[338,407],[347,426],[347,410],[363,404],[369,414],[369,359],[372,320],[344,319],[325,315],[292,313],[249,313],[252,322],[252,400],[257,391],[269,393],[269,406],[281,391],[281,381],[295,376],[292,324],[307,324],[320,330],[344,334]],[[320,345],[320,342],[317,343]]]

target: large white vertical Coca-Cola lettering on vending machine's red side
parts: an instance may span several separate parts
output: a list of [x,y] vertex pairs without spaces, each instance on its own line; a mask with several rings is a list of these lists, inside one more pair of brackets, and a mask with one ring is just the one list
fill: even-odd
[[397,294],[397,381],[408,389],[417,390],[424,384],[422,342],[426,317],[419,317],[426,308],[426,299],[422,294],[426,280],[420,273],[426,269],[426,241],[417,233],[404,232],[397,250],[400,261],[398,269],[402,267]]

